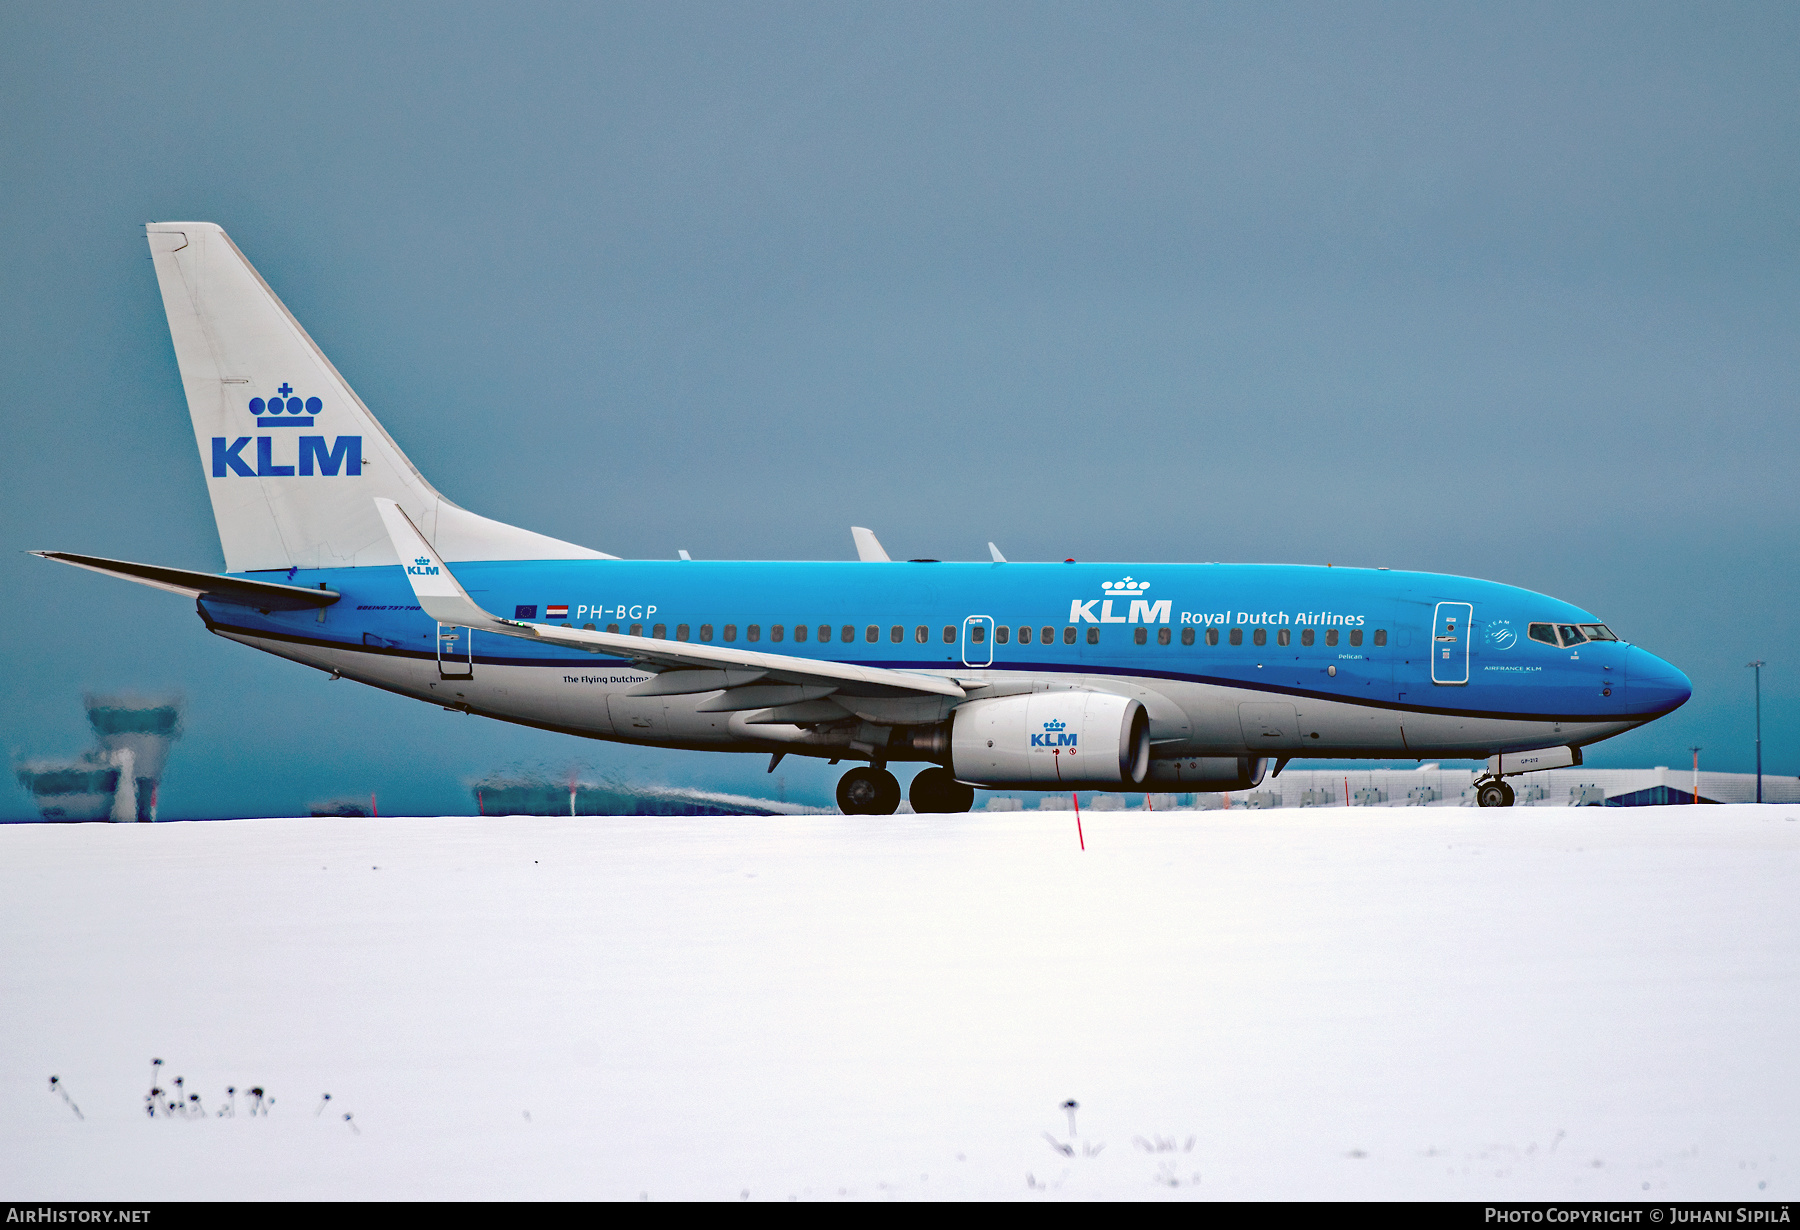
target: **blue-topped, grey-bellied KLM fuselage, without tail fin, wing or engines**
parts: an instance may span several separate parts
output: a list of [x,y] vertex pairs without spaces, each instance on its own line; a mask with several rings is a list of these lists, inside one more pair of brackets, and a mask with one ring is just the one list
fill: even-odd
[[[1300,726],[1321,728],[1301,729],[1300,742],[1283,747],[1296,756],[1487,755],[1593,742],[1690,695],[1679,670],[1625,641],[1566,647],[1528,636],[1534,623],[1593,625],[1586,610],[1431,573],[641,560],[463,562],[455,573],[479,605],[526,621],[958,679],[1145,686],[1172,695],[1188,719],[1186,733],[1161,740],[1159,755],[1242,751],[1235,706],[1258,695],[1291,697],[1301,706]],[[628,663],[439,629],[419,610],[400,567],[248,576],[342,594],[322,616],[203,603],[214,630],[320,668],[452,708],[603,738],[760,746],[688,729],[675,713],[630,728],[617,702],[607,715],[598,699],[643,677]],[[581,677],[589,683],[569,683]],[[452,679],[455,686],[446,684]],[[596,720],[580,720],[581,702],[569,699],[571,690],[589,699]],[[1229,720],[1197,711],[1222,704],[1233,710]],[[1337,717],[1307,722],[1309,706]],[[1345,719],[1354,711],[1370,722]]]

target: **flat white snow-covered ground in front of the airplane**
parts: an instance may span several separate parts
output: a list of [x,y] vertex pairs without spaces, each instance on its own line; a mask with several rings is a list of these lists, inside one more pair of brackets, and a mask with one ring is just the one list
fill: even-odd
[[4,827],[4,1192],[1800,1194],[1800,807],[1084,825]]

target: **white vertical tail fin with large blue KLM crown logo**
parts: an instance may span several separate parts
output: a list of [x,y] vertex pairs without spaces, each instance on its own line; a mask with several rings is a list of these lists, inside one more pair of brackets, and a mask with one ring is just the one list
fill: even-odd
[[374,497],[446,560],[612,558],[446,501],[225,231],[146,232],[227,571],[398,564]]

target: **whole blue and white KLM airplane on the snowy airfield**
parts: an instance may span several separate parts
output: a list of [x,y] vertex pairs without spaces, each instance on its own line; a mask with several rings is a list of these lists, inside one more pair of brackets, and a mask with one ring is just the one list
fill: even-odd
[[[40,551],[196,598],[211,632],[542,729],[862,762],[846,812],[974,787],[1240,791],[1292,758],[1507,778],[1669,713],[1687,677],[1566,601],[1265,564],[621,560],[437,493],[227,234],[148,227],[225,573]],[[686,553],[684,553],[686,555]]]

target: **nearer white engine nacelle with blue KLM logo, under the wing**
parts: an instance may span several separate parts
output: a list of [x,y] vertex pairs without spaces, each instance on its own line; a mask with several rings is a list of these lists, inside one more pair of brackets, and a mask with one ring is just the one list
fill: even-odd
[[1150,715],[1107,692],[1033,692],[958,706],[950,773],[985,787],[1139,785],[1150,771]]

